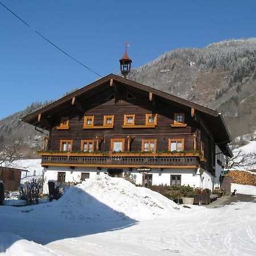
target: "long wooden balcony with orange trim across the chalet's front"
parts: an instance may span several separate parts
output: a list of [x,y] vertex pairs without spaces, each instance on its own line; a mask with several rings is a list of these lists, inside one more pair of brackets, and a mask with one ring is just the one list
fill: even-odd
[[42,166],[197,168],[199,153],[39,152]]

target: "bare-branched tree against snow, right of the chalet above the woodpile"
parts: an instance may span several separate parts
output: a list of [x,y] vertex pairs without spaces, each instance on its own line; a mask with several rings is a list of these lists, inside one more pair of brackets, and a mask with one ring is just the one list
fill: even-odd
[[245,153],[238,150],[237,145],[231,145],[230,150],[233,152],[233,157],[225,157],[225,168],[232,169],[236,167],[252,166],[256,164],[256,154],[254,152]]

